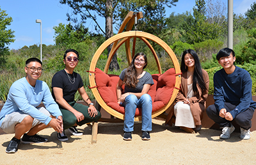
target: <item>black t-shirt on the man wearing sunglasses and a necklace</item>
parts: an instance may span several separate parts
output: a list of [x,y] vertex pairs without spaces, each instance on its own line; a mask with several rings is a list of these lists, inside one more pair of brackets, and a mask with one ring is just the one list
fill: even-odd
[[[70,82],[70,80],[68,79],[68,75],[72,80],[74,80],[75,77],[75,82],[73,84],[71,83],[72,81]],[[63,89],[63,98],[65,99],[65,101],[71,102],[74,101],[77,89],[83,87],[84,84],[81,76],[78,73],[73,72],[72,75],[68,75],[64,69],[55,73],[55,75],[52,77],[52,88],[58,87]],[[55,100],[53,90],[52,97]]]

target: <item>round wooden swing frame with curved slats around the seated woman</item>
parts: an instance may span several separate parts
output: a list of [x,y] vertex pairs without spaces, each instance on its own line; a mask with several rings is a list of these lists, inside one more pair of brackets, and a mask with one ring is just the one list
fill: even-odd
[[[132,18],[134,18],[134,19],[132,19]],[[179,92],[179,87],[180,87],[180,66],[179,66],[179,61],[177,60],[176,55],[173,53],[172,49],[163,40],[161,40],[157,36],[154,36],[153,34],[149,34],[147,32],[142,32],[142,31],[130,31],[132,29],[132,25],[134,24],[134,20],[136,22],[136,18],[142,18],[142,13],[140,12],[140,13],[134,14],[132,11],[130,11],[127,14],[123,24],[120,27],[118,34],[107,39],[104,43],[102,43],[102,45],[100,45],[98,50],[95,52],[95,54],[93,55],[93,58],[92,58],[92,62],[90,64],[90,71],[88,71],[90,73],[89,74],[90,89],[92,89],[93,96],[95,97],[97,103],[99,103],[100,106],[104,110],[106,110],[110,115],[113,115],[114,117],[120,118],[122,120],[124,120],[124,113],[120,113],[119,111],[116,111],[114,108],[111,108],[106,103],[106,101],[102,98],[102,96],[100,96],[100,92],[98,90],[98,85],[95,82],[95,70],[97,70],[96,69],[97,61],[99,60],[99,57],[102,54],[102,52],[109,45],[113,44],[113,47],[111,49],[111,52],[109,53],[108,61],[104,68],[104,73],[106,73],[106,74],[108,74],[108,68],[109,68],[111,59],[113,58],[113,55],[116,53],[118,48],[124,43],[125,43],[125,50],[126,50],[126,55],[127,55],[127,62],[130,63],[132,61],[132,57],[135,54],[136,38],[141,39],[148,46],[148,48],[150,48],[152,54],[154,55],[156,63],[157,63],[159,77],[162,74],[161,65],[160,65],[159,59],[157,57],[157,54],[156,54],[154,48],[152,47],[152,45],[150,45],[150,43],[148,42],[147,39],[150,39],[150,40],[154,41],[155,43],[157,43],[158,45],[160,45],[172,59],[173,66],[174,66],[173,73],[174,73],[174,78],[175,78],[175,83],[173,83],[172,96],[170,97],[170,100],[168,101],[168,103],[165,103],[163,107],[152,112],[152,118],[157,117],[158,115],[161,115],[161,113],[163,113],[165,110],[167,110],[172,105],[173,101],[175,100],[175,97],[177,96],[177,94]],[[122,31],[124,31],[125,25],[126,25],[126,32],[122,32]],[[132,55],[131,55],[130,39],[132,39],[132,38],[133,38],[133,44],[132,44],[133,46],[132,46]],[[158,76],[157,76],[157,78],[158,78]],[[112,90],[115,90],[115,88],[112,88]],[[153,99],[152,99],[152,101],[153,101]],[[116,100],[116,104],[117,104],[117,100]],[[141,116],[140,115],[136,116],[134,118],[134,120],[141,120]]]

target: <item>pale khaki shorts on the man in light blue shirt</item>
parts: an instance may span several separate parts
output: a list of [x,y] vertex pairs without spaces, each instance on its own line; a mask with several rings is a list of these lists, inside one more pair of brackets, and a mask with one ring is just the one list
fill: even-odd
[[[37,109],[45,115],[51,116],[49,111],[47,111],[44,107],[39,107]],[[27,116],[28,114],[25,114],[22,111],[14,111],[13,113],[5,115],[1,128],[3,129],[4,133],[13,134],[15,133],[15,126],[22,122],[22,120]],[[41,122],[34,118],[31,128],[35,127],[38,124],[41,124]]]

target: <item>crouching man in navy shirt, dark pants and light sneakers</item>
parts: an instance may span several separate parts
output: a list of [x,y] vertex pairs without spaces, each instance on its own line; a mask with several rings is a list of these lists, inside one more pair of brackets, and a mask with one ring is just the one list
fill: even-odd
[[240,138],[250,139],[253,112],[256,102],[252,100],[252,79],[248,71],[234,66],[235,52],[223,48],[216,59],[223,69],[214,74],[214,101],[206,110],[209,118],[223,127],[221,139],[230,138],[235,127],[234,120],[241,129]]

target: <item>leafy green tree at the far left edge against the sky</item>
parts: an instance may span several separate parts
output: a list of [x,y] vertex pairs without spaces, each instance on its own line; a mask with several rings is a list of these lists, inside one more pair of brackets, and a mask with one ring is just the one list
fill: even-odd
[[9,48],[7,45],[13,43],[15,39],[13,39],[14,31],[11,29],[6,29],[7,25],[10,25],[12,22],[12,17],[7,17],[5,10],[1,10],[0,8],[0,68],[5,64],[5,56],[9,55]]

